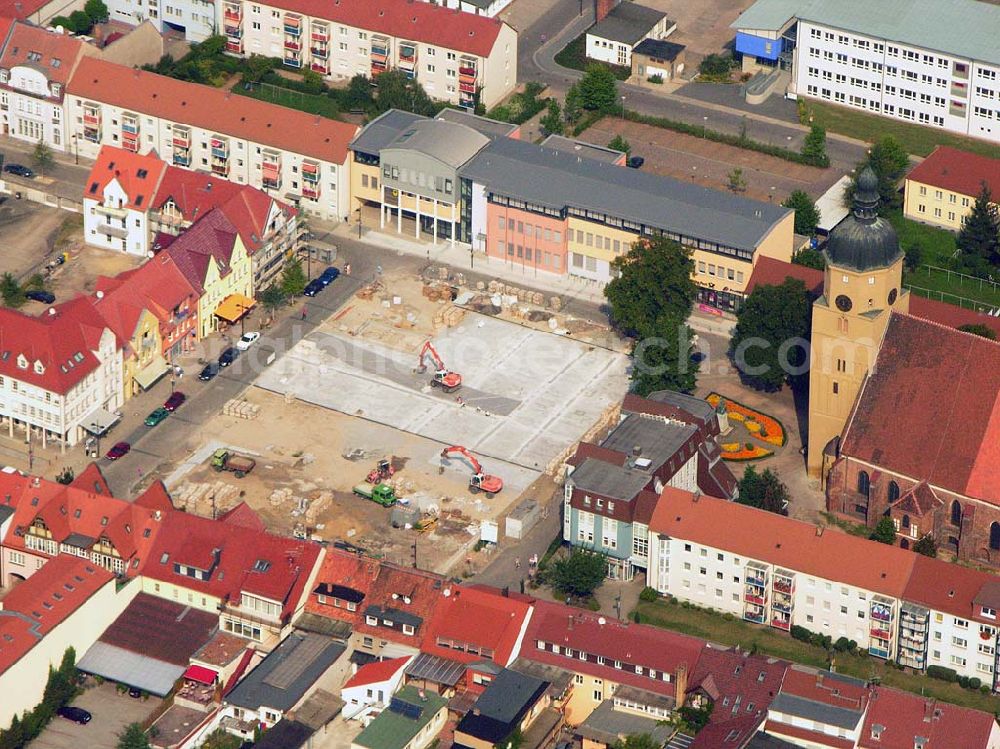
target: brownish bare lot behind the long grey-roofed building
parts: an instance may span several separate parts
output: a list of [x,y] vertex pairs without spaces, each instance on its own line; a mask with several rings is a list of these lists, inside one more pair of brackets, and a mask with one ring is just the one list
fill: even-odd
[[[711,121],[707,124],[711,127]],[[752,137],[752,123],[749,127]],[[729,173],[739,167],[747,180],[743,194],[756,200],[781,202],[793,190],[805,190],[818,198],[839,178],[830,169],[793,164],[775,156],[614,117],[605,117],[580,137],[605,145],[619,134],[632,146],[633,155],[646,160],[643,170],[692,180],[714,190],[728,189]]]

